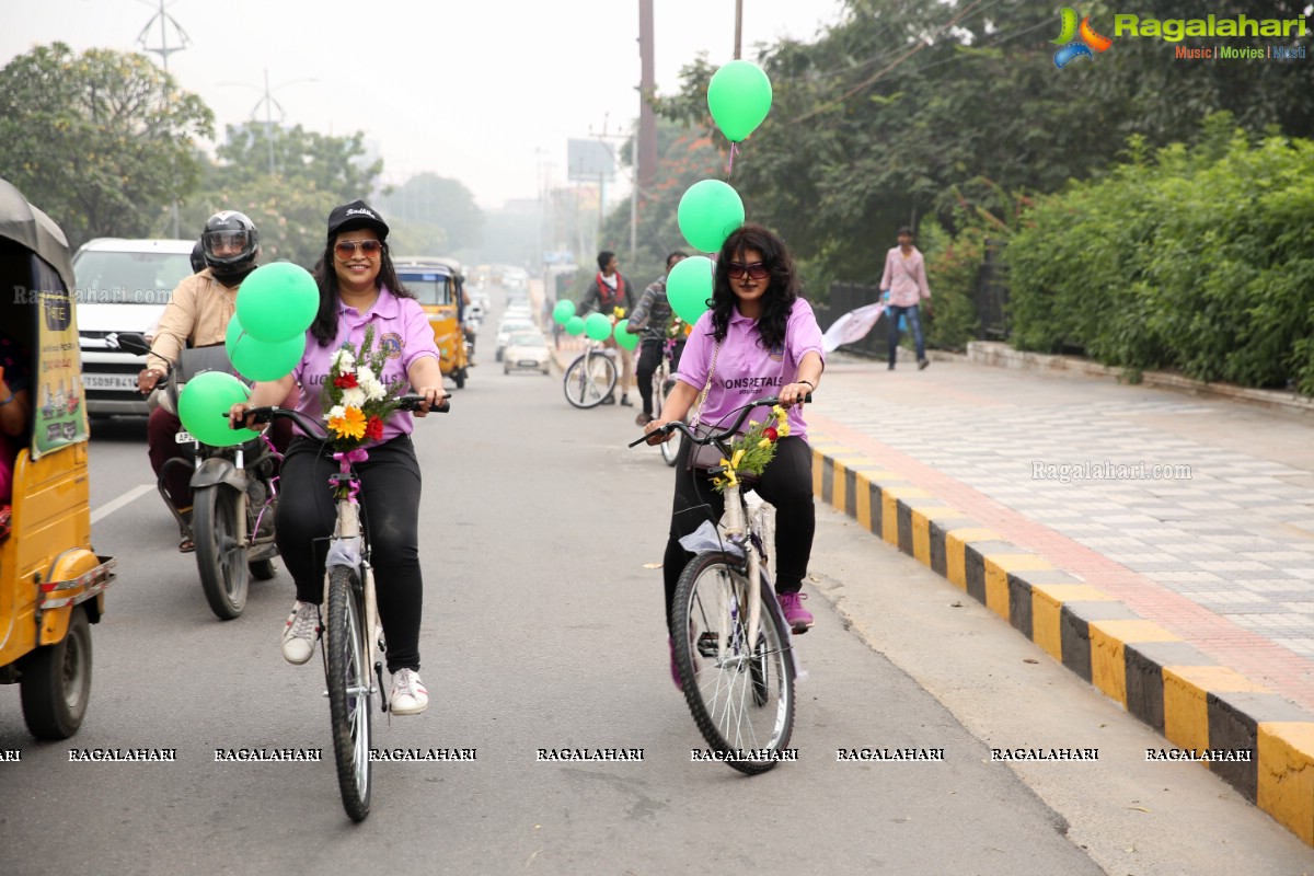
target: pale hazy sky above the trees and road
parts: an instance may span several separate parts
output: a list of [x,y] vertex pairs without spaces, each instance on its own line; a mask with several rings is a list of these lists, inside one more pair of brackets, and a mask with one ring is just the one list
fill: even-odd
[[[54,41],[139,49],[159,0],[5,7],[0,66]],[[660,93],[677,89],[699,51],[712,63],[733,56],[735,0],[654,7]],[[536,197],[540,180],[564,184],[568,139],[603,123],[623,133],[639,112],[639,0],[166,0],[166,12],[191,39],[170,71],[214,110],[217,133],[258,104],[264,120],[268,68],[286,123],[363,130],[386,181],[434,171],[484,208]],[[757,42],[812,39],[842,12],[841,0],[744,0],[744,56],[756,58]],[[168,41],[179,42],[173,28]],[[158,22],[146,45],[160,46]]]

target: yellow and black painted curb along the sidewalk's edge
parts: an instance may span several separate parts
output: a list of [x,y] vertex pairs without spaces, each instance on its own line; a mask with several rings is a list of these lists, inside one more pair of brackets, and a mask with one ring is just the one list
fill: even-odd
[[900,473],[812,435],[816,496],[967,591],[1314,846],[1314,716],[1014,546]]

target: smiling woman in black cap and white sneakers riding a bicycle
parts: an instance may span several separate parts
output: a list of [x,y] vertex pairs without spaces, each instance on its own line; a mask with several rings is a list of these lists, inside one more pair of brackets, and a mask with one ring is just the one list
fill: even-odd
[[[319,420],[321,390],[332,356],[344,341],[359,345],[367,328],[388,351],[380,376],[385,385],[406,380],[431,407],[447,398],[438,364],[438,347],[428,318],[415,297],[397,280],[388,252],[388,225],[363,201],[335,208],[328,215],[328,239],[317,267],[319,313],[306,336],[306,352],[293,372],[272,382],[258,382],[251,399],[234,405],[237,420],[247,408],[280,403],[293,385],[301,386],[297,408]],[[419,679],[419,619],[423,580],[419,566],[420,473],[410,432],[410,414],[398,411],[382,437],[365,445],[369,458],[356,464],[360,502],[372,545],[371,561],[378,587],[378,616],[388,640],[389,696],[394,714],[419,714],[428,693]],[[302,436],[283,461],[279,503],[279,553],[297,583],[297,602],[284,626],[283,655],[305,663],[319,634],[325,557],[335,520],[328,478],[338,462],[319,439]]]

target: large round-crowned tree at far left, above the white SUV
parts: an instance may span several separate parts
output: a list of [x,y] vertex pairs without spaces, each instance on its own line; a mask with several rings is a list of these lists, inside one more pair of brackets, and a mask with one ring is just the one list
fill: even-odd
[[70,243],[143,236],[200,177],[214,114],[146,56],[38,46],[0,70],[0,176]]

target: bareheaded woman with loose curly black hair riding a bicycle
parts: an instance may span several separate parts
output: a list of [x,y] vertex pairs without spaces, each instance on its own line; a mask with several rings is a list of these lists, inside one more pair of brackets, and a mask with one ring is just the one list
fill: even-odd
[[[708,426],[756,398],[781,397],[790,411],[788,435],[779,439],[775,458],[754,490],[775,506],[777,599],[794,632],[803,633],[812,625],[812,615],[803,607],[799,591],[812,553],[816,510],[812,450],[802,411],[803,399],[817,387],[825,362],[821,328],[812,307],[799,298],[798,285],[794,259],[781,238],[757,225],[735,230],[721,246],[712,305],[689,335],[675,387],[666,397],[661,416],[644,431],[685,419],[704,387],[699,422]],[[763,408],[753,418],[769,415]],[[724,512],[723,496],[687,469],[690,449],[686,441],[675,462],[675,499],[662,561],[668,626],[679,574],[694,557],[679,540],[708,517],[719,520]]]

